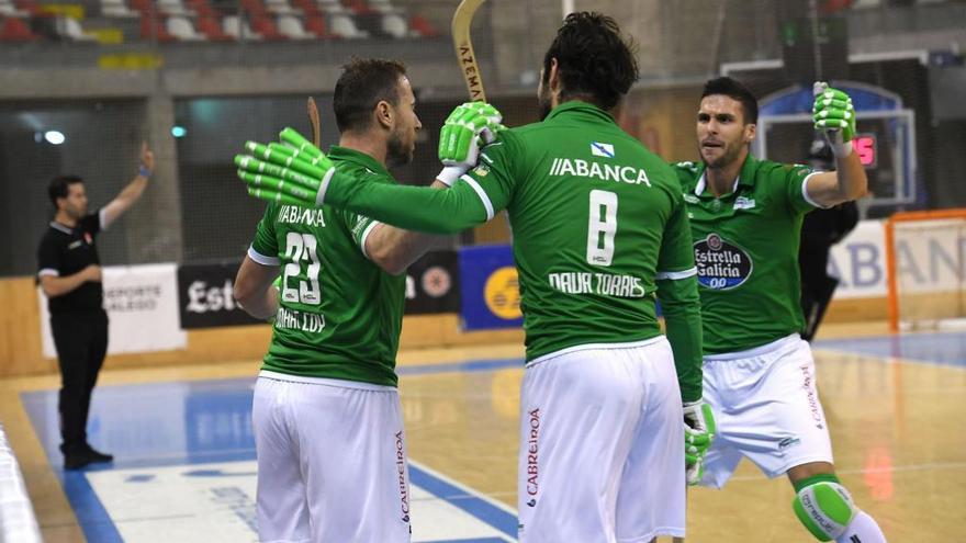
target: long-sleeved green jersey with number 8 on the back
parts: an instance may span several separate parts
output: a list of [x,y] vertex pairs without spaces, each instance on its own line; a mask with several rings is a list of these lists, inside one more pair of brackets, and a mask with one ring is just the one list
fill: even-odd
[[[392,190],[385,190],[392,189]],[[325,201],[403,228],[458,231],[507,210],[527,359],[641,341],[669,323],[685,399],[700,397],[700,317],[690,230],[674,171],[591,104],[501,134],[447,191],[361,189]]]

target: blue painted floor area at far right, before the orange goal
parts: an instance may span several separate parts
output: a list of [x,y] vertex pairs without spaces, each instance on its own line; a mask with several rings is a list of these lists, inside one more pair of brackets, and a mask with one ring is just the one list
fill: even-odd
[[966,366],[966,332],[905,333],[872,338],[829,339],[816,341],[817,349],[866,354],[883,359],[896,358],[910,362],[931,362]]

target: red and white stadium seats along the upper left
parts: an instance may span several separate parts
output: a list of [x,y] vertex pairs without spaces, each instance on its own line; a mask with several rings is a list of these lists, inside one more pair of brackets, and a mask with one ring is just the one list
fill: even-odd
[[[56,0],[0,0],[3,41],[96,42],[108,27],[119,39],[169,42],[435,37],[420,15],[393,0],[82,0],[79,14],[45,11]],[[74,4],[71,4],[74,5]],[[56,14],[55,14],[56,13]],[[15,21],[7,23],[8,19]],[[113,22],[109,21],[113,20]],[[124,20],[130,20],[126,22]],[[89,32],[86,32],[88,30]]]

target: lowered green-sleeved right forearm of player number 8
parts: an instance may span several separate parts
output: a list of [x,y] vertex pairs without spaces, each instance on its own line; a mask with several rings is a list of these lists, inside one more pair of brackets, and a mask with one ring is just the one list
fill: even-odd
[[658,282],[658,298],[664,314],[667,341],[684,401],[701,397],[701,313],[697,278]]

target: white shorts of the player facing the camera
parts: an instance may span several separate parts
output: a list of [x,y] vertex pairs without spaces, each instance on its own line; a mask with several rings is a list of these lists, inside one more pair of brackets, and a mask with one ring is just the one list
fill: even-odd
[[832,462],[815,361],[797,333],[749,351],[705,357],[705,401],[718,433],[701,485],[721,488],[748,456],[768,477]]

